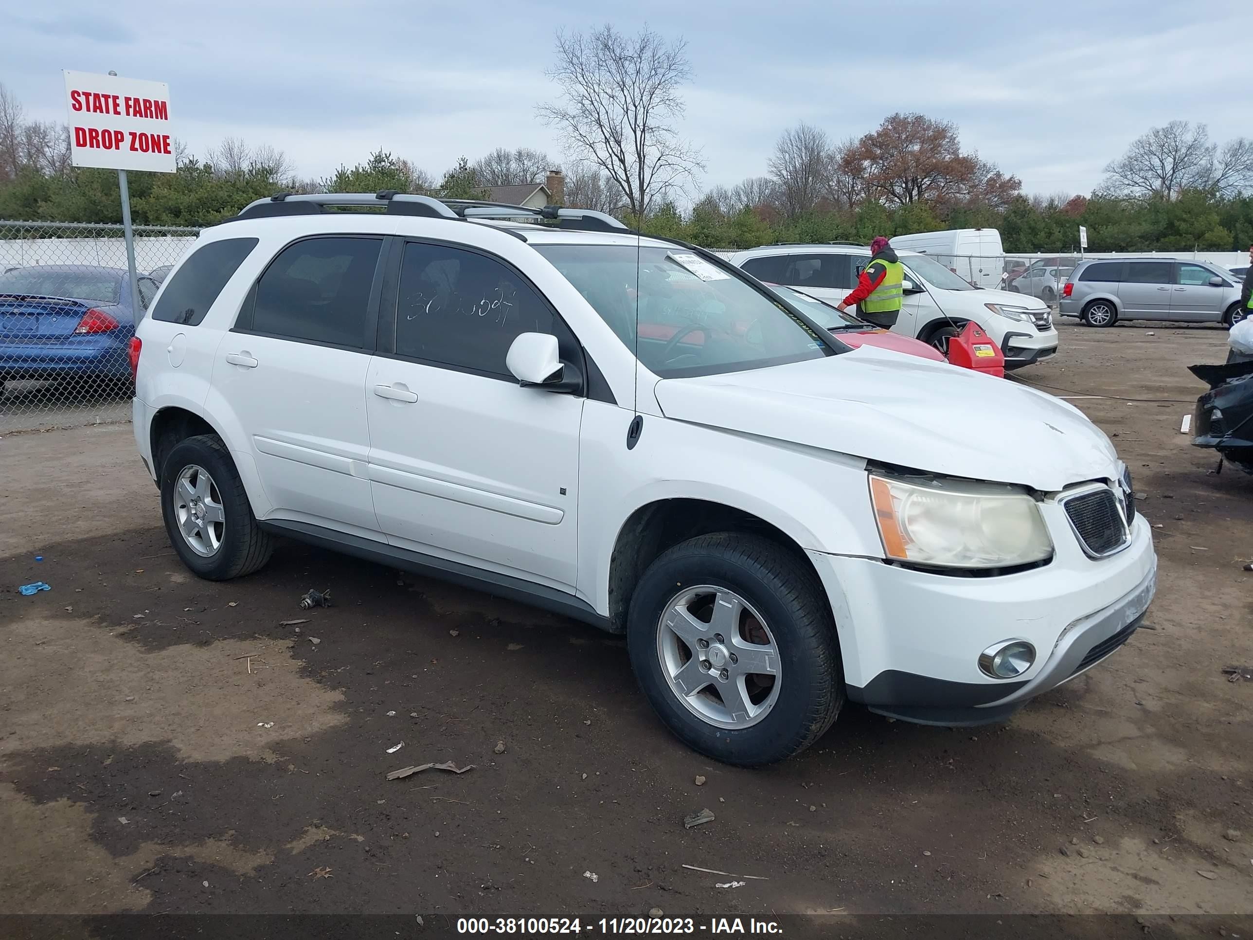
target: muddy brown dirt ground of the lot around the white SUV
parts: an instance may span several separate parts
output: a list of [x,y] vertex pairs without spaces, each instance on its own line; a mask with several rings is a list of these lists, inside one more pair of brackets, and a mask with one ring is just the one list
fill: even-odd
[[[1061,332],[1021,377],[1113,396],[1070,400],[1155,526],[1146,628],[1007,724],[850,706],[757,771],[673,739],[618,638],[298,544],[251,578],[197,580],[129,425],[5,436],[0,912],[659,907],[819,914],[840,932],[1103,912],[1134,916],[1071,926],[1249,936],[1253,683],[1222,668],[1253,663],[1253,478],[1215,475],[1179,432],[1203,391],[1185,366],[1222,361],[1225,332]],[[51,590],[19,595],[33,580]],[[308,588],[335,607],[299,610]],[[385,777],[429,761],[474,770]],[[714,822],[685,830],[703,807]]]

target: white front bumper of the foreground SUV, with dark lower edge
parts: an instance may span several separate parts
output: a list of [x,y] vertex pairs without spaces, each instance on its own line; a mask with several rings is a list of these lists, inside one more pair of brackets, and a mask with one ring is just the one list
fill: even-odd
[[[906,721],[982,724],[1111,653],[1153,598],[1149,525],[1136,518],[1131,544],[1098,560],[1058,541],[1050,564],[996,578],[809,553],[832,600],[848,698]],[[1010,639],[1035,647],[1031,668],[1017,679],[980,672],[980,652]]]

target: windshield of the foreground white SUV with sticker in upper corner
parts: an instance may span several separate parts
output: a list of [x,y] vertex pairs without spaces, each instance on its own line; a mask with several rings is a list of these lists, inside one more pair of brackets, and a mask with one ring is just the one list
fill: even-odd
[[638,336],[639,361],[663,379],[763,368],[834,352],[781,305],[679,246],[535,249],[628,348],[637,348]]

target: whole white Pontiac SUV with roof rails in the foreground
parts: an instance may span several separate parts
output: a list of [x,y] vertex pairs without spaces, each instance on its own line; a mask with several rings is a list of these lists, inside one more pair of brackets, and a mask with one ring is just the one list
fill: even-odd
[[[387,211],[326,211],[362,203]],[[192,572],[248,574],[286,535],[625,633],[665,724],[730,763],[797,753],[846,698],[1002,719],[1154,590],[1078,410],[852,350],[596,213],[254,203],[200,234],[132,361]]]

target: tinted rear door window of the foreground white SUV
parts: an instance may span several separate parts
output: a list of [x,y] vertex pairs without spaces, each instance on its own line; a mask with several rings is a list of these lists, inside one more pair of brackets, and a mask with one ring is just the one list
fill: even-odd
[[363,348],[381,238],[306,238],[257,281],[252,331]]

